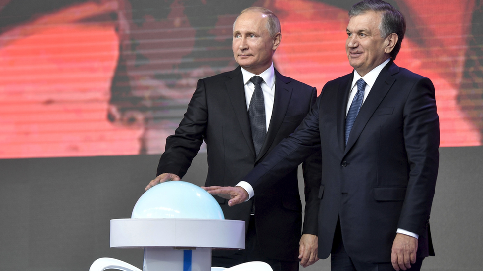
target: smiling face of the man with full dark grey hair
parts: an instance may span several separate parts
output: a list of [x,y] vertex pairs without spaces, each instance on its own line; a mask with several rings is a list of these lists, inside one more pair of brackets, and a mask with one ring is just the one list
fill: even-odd
[[360,76],[366,75],[390,57],[386,53],[388,51],[388,38],[381,38],[379,31],[380,22],[380,14],[369,11],[353,16],[347,25],[345,51],[350,66]]

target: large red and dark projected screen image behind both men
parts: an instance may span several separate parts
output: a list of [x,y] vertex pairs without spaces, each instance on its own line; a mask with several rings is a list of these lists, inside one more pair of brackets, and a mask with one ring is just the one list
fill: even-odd
[[[281,20],[276,69],[320,91],[352,71],[355,2],[0,0],[0,158],[162,153],[197,80],[236,67],[232,25],[251,5]],[[435,84],[441,146],[481,145],[482,4],[389,2],[408,23],[396,64]]]

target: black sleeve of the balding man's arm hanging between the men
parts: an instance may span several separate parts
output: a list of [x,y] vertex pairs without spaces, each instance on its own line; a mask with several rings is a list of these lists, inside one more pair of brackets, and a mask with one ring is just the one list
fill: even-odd
[[[317,99],[317,90],[314,88],[312,93],[313,106]],[[322,154],[320,148],[310,155],[302,164],[304,194],[305,194],[305,214],[303,220],[302,234],[318,235],[318,215],[319,215],[319,189],[322,175]]]

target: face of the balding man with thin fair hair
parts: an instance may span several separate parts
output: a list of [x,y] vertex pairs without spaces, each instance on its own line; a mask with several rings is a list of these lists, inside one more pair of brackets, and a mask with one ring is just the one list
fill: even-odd
[[259,75],[272,65],[272,56],[280,43],[280,33],[271,38],[267,16],[257,11],[240,15],[233,27],[233,56],[245,70]]

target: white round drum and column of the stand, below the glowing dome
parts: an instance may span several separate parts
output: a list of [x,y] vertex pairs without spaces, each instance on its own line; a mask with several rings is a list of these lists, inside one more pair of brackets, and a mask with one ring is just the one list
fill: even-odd
[[110,246],[144,248],[143,271],[210,271],[212,249],[245,248],[245,222],[113,219]]

